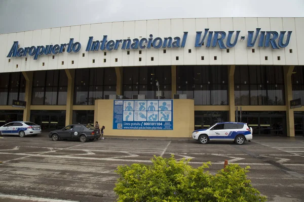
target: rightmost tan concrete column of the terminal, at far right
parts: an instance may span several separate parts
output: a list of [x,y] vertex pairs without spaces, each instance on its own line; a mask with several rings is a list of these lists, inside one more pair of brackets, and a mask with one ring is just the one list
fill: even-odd
[[294,66],[284,67],[284,82],[285,82],[285,102],[286,102],[286,125],[287,136],[294,137],[294,117],[293,110],[290,109],[290,100],[292,100],[292,82],[291,75]]

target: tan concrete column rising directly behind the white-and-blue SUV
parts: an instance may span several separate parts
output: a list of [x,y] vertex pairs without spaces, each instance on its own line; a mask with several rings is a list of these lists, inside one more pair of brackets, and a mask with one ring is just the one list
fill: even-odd
[[235,122],[236,121],[236,106],[235,106],[235,94],[234,94],[234,72],[236,66],[231,65],[228,68],[229,71],[229,121]]

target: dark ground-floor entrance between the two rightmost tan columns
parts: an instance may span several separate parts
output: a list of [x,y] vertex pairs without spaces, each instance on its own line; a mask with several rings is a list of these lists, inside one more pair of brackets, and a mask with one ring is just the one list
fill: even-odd
[[286,113],[284,111],[244,111],[242,119],[240,119],[239,112],[238,122],[247,123],[252,127],[253,135],[286,136]]

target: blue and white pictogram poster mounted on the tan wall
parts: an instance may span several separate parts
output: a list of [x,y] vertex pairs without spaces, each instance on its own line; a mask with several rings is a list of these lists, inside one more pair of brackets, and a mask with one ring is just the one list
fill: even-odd
[[173,130],[173,99],[113,101],[113,129]]

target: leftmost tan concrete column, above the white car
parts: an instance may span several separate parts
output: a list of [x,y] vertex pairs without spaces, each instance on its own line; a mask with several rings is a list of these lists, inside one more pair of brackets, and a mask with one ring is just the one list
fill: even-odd
[[22,72],[25,78],[25,97],[26,108],[23,110],[23,121],[29,121],[30,118],[30,104],[31,104],[31,94],[33,85],[33,72]]

